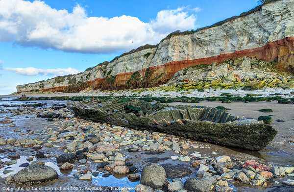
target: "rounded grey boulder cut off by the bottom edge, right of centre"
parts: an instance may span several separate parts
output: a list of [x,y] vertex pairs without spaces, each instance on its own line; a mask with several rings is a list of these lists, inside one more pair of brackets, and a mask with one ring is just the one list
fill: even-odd
[[188,192],[209,192],[211,181],[205,178],[190,177],[184,183],[184,189]]

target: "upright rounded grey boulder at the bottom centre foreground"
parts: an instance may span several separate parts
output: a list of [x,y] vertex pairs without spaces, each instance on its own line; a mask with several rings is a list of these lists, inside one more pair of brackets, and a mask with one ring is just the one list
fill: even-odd
[[157,164],[148,164],[141,173],[140,184],[147,185],[152,189],[162,188],[166,177],[163,167]]

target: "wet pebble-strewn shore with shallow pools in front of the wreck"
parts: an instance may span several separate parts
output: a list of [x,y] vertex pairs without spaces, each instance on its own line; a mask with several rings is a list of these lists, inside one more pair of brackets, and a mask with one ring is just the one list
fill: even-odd
[[[57,183],[66,171],[73,180],[91,184],[98,174],[102,174],[101,180],[111,175],[127,176],[130,182],[137,182],[136,192],[230,192],[248,187],[245,191],[274,191],[281,187],[293,190],[294,164],[270,163],[165,133],[82,120],[63,103],[6,106],[0,109],[0,117],[4,120],[0,124],[0,170],[5,186]],[[40,126],[26,127],[20,123],[24,120]],[[6,130],[12,133],[6,134]],[[26,167],[16,172],[13,166],[21,166],[18,160],[22,155],[26,159],[22,166]],[[48,161],[58,169],[51,170],[52,166],[46,165]],[[42,178],[42,168],[52,174]],[[35,175],[23,180],[21,175],[31,171]]]

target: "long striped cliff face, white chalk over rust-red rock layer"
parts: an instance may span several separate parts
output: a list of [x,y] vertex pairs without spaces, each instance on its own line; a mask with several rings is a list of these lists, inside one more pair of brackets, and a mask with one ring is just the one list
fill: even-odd
[[264,4],[219,26],[173,35],[158,47],[121,56],[76,75],[19,85],[17,91],[153,87],[166,83],[183,68],[244,56],[276,61],[280,68],[294,73],[294,0]]

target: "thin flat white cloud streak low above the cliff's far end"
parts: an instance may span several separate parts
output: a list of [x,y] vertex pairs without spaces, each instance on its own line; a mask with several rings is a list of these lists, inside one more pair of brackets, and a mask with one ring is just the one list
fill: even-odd
[[73,69],[73,68],[67,68],[67,69],[37,69],[33,67],[28,68],[3,68],[4,71],[8,72],[14,72],[16,74],[21,75],[27,75],[27,76],[33,76],[33,75],[44,75],[44,76],[62,76],[67,74],[76,74],[80,71]]

